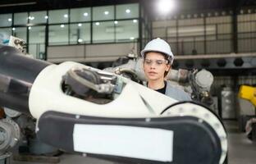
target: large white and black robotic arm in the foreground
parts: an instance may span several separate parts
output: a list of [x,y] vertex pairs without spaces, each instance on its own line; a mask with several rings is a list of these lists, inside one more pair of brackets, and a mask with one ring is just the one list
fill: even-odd
[[0,47],[0,105],[34,116],[44,143],[131,163],[225,161],[226,130],[207,107],[177,103],[121,75],[20,53]]

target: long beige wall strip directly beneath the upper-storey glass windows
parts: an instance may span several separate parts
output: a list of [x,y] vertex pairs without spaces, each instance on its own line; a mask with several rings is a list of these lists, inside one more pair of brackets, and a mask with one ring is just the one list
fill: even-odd
[[104,43],[70,46],[48,46],[48,62],[107,62],[138,52],[138,43]]

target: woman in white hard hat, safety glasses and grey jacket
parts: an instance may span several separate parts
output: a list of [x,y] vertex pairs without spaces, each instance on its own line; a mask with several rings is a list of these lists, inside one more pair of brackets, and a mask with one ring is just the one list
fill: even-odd
[[153,39],[141,51],[144,58],[143,69],[149,89],[164,93],[178,101],[190,101],[190,95],[182,89],[171,86],[165,76],[171,70],[173,54],[169,44],[162,39]]

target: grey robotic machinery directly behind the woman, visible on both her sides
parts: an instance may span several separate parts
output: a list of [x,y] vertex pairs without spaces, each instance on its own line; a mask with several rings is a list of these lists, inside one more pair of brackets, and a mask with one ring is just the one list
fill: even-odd
[[[133,53],[127,57],[121,57],[114,62],[112,67],[104,69],[117,75],[123,75],[135,82],[143,83],[146,78],[143,71],[143,59],[138,58]],[[193,100],[210,106],[213,103],[210,89],[213,84],[213,74],[206,70],[174,70],[171,69],[167,75],[167,80],[185,92],[190,93]]]

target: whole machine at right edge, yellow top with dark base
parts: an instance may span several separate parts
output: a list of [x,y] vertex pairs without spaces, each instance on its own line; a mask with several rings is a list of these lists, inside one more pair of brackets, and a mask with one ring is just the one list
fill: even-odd
[[[252,86],[242,85],[240,86],[239,94],[240,98],[248,100],[254,105],[254,113],[256,113],[256,88]],[[249,139],[256,141],[256,115],[254,116],[241,116],[240,124],[243,127],[242,130],[245,130]]]

